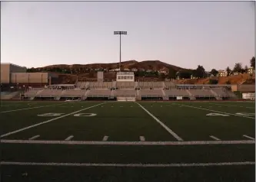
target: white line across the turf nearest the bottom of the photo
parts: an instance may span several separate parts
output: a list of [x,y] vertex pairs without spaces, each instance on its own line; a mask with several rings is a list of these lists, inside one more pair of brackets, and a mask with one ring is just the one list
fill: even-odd
[[75,166],[75,167],[208,167],[208,166],[234,166],[254,165],[254,161],[244,162],[218,162],[218,163],[172,163],[172,164],[115,164],[115,163],[57,163],[57,162],[15,162],[1,161],[1,165],[22,166]]

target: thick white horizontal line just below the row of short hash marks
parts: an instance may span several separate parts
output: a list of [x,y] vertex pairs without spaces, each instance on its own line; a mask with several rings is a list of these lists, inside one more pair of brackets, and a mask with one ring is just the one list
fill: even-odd
[[6,144],[41,145],[240,145],[255,144],[254,140],[234,141],[49,141],[49,140],[0,140]]

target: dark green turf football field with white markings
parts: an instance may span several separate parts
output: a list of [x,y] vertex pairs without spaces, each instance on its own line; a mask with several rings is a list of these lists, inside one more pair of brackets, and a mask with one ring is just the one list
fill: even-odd
[[1,181],[255,181],[255,102],[1,105]]

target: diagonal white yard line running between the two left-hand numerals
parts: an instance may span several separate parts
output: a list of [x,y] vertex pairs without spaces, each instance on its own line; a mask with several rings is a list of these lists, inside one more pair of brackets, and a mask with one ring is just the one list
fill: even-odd
[[52,122],[52,121],[55,121],[55,120],[57,120],[57,119],[62,119],[62,118],[64,118],[64,117],[68,116],[68,115],[74,115],[74,114],[77,113],[77,112],[81,112],[81,111],[84,111],[84,110],[86,110],[86,109],[91,109],[91,108],[93,108],[93,107],[100,106],[100,105],[105,104],[105,103],[107,103],[107,102],[103,102],[103,103],[100,103],[100,104],[96,104],[96,105],[94,105],[94,106],[90,106],[90,107],[85,108],[85,109],[81,109],[81,110],[78,110],[78,111],[75,111],[75,112],[71,112],[71,113],[69,113],[69,114],[62,115],[62,116],[59,116],[59,117],[54,118],[54,119],[49,119],[49,120],[47,120],[47,121],[45,121],[45,122],[39,122],[38,124],[35,124],[35,125],[29,125],[29,126],[27,126],[27,127],[25,127],[25,128],[21,128],[21,129],[15,130],[15,131],[13,131],[13,132],[5,133],[4,135],[1,135],[0,138],[5,137],[5,136],[8,136],[8,135],[15,134],[15,133],[18,133],[18,132],[22,132],[22,131],[24,131],[24,130],[26,130],[26,129],[29,129],[29,128],[34,128],[35,126],[43,125],[43,124],[45,124],[45,123]]

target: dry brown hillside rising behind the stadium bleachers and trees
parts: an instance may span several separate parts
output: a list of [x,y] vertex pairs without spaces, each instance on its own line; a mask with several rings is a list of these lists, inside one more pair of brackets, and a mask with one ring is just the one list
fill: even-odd
[[[92,63],[92,64],[58,64],[58,65],[49,65],[47,67],[38,67],[33,68],[35,71],[48,71],[58,73],[60,83],[75,83],[78,80],[96,80],[97,77],[97,69],[104,70],[113,70],[119,67],[119,63]],[[181,67],[176,67],[174,65],[161,62],[160,60],[145,60],[138,62],[136,60],[128,60],[121,62],[121,69],[137,69],[137,70],[151,70],[151,71],[168,71],[169,69],[173,69],[175,71],[180,70],[188,70]],[[63,70],[68,70],[69,73],[60,73]],[[90,71],[94,70],[94,71]],[[153,73],[153,72],[152,72]],[[115,72],[105,72],[104,77],[105,80],[115,80]],[[160,81],[163,80],[160,74],[148,74],[147,76],[135,74],[135,80],[155,80]],[[255,84],[255,75],[250,76],[248,73],[232,75],[227,77],[215,77],[211,78],[211,80],[218,80],[218,84]],[[209,84],[210,78],[202,78],[202,79],[184,79],[184,80],[175,80],[177,84]]]

